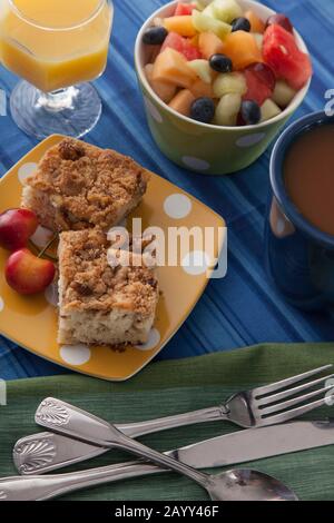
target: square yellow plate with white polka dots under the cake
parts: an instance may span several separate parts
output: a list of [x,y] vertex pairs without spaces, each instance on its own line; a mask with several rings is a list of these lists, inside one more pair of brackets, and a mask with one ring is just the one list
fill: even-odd
[[[33,172],[36,164],[47,149],[63,137],[50,136],[40,142],[0,180],[0,213],[20,206],[24,178]],[[59,346],[57,339],[57,284],[45,294],[20,296],[6,283],[3,268],[8,253],[0,248],[0,333],[13,343],[38,356],[72,371],[109,381],[125,381],[145,367],[178,330],[202,296],[214,263],[225,245],[224,219],[178,187],[151,176],[140,206],[128,217],[141,218],[143,229],[158,227],[168,238],[169,231],[212,231],[210,255],[198,249],[189,238],[189,250],[179,257],[177,264],[159,264],[158,278],[161,290],[157,317],[149,342],[139,347],[88,347]],[[196,228],[196,229],[194,229]],[[214,231],[214,233],[213,233]],[[42,246],[49,239],[49,231],[38,229],[35,245]],[[203,236],[206,238],[206,236]],[[205,250],[205,253],[204,253]],[[200,256],[202,255],[202,256]],[[174,257],[173,257],[174,258]],[[198,263],[202,258],[203,264]],[[180,347],[181,351],[181,347]]]

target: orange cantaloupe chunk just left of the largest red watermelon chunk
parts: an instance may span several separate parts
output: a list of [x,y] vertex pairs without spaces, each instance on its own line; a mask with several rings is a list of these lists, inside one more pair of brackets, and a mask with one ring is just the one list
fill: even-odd
[[223,52],[232,59],[233,68],[236,70],[263,61],[256,39],[246,31],[235,31],[228,34],[224,41]]

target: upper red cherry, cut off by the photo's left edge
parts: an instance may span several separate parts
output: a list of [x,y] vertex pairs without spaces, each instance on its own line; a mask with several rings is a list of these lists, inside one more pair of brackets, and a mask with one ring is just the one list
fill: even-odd
[[38,227],[35,213],[29,209],[9,209],[0,215],[0,246],[18,250],[27,246]]

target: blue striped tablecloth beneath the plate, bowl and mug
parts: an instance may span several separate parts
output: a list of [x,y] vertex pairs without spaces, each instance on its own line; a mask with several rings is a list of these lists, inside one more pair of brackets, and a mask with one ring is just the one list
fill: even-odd
[[[289,307],[271,287],[264,273],[263,230],[268,198],[269,150],[250,168],[230,177],[194,175],[170,164],[155,146],[145,120],[134,71],[134,43],[145,19],[163,0],[115,0],[115,26],[108,68],[97,87],[104,115],[88,140],[129,154],[147,168],[183,187],[222,214],[229,227],[229,269],[213,280],[186,324],[159,358],[195,356],[263,342],[326,342],[333,323],[321,314]],[[334,2],[328,0],[266,0],[286,12],[304,36],[314,61],[311,92],[296,117],[324,107],[334,88]],[[17,78],[0,69],[7,93]],[[0,174],[36,142],[20,132],[10,117],[0,118]],[[66,371],[0,338],[0,375],[20,378]]]

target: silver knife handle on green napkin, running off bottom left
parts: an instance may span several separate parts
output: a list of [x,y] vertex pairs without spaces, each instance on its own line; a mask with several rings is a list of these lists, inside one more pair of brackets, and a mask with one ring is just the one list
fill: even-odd
[[156,465],[128,462],[100,468],[47,476],[0,478],[0,501],[45,501],[90,486],[168,472]]

